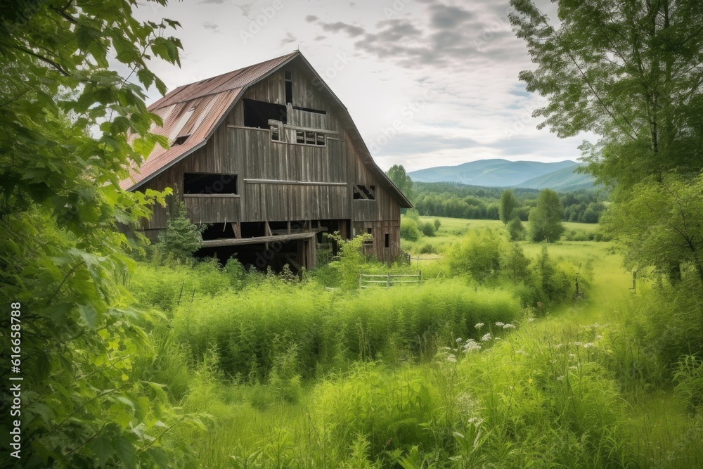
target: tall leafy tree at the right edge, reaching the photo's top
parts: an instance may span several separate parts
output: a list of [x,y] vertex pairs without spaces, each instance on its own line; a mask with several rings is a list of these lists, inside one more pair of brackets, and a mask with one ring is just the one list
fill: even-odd
[[[531,0],[511,4],[511,23],[537,64],[520,78],[527,91],[548,98],[534,113],[545,119],[540,127],[562,137],[579,131],[601,137],[581,150],[588,171],[613,188],[611,210],[628,213],[617,217],[622,233],[613,235],[636,239],[669,233],[686,245],[683,231],[669,231],[668,217],[650,217],[638,191],[664,196],[661,186],[672,174],[678,184],[690,185],[678,186],[678,193],[697,190],[703,169],[703,4],[558,0],[554,24]],[[633,204],[643,210],[628,210]],[[631,265],[662,271],[661,259],[636,243],[621,248]],[[666,255],[670,272],[690,263],[688,250]]]

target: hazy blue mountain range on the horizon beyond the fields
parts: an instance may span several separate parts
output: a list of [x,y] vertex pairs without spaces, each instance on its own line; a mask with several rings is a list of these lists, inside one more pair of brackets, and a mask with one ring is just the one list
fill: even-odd
[[478,160],[458,166],[437,166],[408,174],[416,182],[458,182],[472,186],[550,188],[576,191],[595,186],[589,174],[574,172],[583,163],[560,161]]

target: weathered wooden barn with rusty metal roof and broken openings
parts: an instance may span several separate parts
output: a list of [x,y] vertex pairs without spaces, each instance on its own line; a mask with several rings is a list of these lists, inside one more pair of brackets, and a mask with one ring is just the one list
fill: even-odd
[[[368,255],[400,253],[406,196],[375,165],[347,108],[302,53],[179,86],[150,106],[170,148],[157,147],[122,182],[130,191],[174,188],[203,254],[265,269],[315,265],[323,233],[370,233]],[[167,209],[143,233],[157,240]]]

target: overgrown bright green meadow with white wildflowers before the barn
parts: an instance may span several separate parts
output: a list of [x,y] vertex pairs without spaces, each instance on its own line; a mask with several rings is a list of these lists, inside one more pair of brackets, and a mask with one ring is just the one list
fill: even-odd
[[129,288],[160,317],[144,378],[205,423],[170,435],[193,464],[703,467],[703,364],[652,338],[676,337],[656,282],[631,290],[609,242],[510,243],[500,221],[439,221],[390,268],[421,269],[419,286],[340,286],[350,269],[388,271],[373,260],[302,279],[139,264]]

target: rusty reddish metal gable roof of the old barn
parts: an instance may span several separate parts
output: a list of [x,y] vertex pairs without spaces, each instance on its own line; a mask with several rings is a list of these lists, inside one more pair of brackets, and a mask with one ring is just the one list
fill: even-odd
[[174,141],[179,136],[188,136],[188,138],[181,145],[175,145],[171,148],[156,146],[143,165],[133,170],[128,179],[120,182],[120,186],[125,190],[135,190],[157,176],[157,174],[191,155],[198,148],[205,146],[215,129],[224,121],[234,105],[252,84],[268,77],[295,58],[300,58],[307,65],[309,70],[320,80],[324,91],[330,95],[331,101],[337,105],[340,121],[347,130],[352,143],[359,151],[366,167],[378,176],[382,185],[399,201],[401,207],[412,207],[413,205],[408,198],[388,179],[385,172],[375,164],[366,147],[366,143],[361,138],[359,129],[356,128],[352,117],[349,115],[349,111],[329,86],[323,82],[322,77],[312,68],[312,65],[300,51],[200,82],[179,86],[159,101],[150,105],[148,110],[159,115],[163,120],[162,127],[152,129],[154,133],[167,136],[169,141]]

